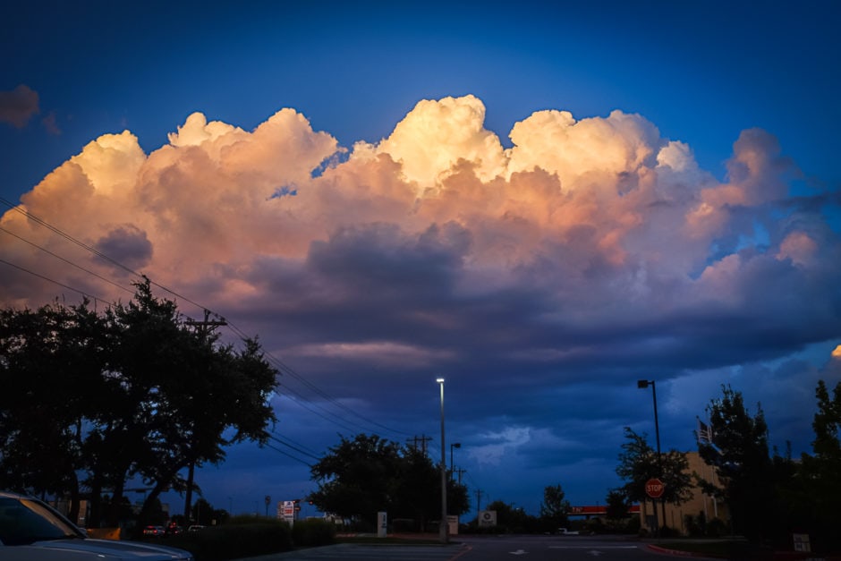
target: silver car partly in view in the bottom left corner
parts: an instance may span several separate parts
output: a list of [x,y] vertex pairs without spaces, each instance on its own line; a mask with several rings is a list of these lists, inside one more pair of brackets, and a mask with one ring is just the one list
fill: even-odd
[[93,540],[37,498],[0,491],[3,561],[193,561],[183,549],[123,540]]

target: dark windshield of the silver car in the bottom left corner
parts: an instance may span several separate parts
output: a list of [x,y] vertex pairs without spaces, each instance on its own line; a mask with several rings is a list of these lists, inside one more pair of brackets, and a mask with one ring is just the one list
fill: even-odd
[[4,545],[81,537],[75,526],[40,501],[0,497],[0,542]]

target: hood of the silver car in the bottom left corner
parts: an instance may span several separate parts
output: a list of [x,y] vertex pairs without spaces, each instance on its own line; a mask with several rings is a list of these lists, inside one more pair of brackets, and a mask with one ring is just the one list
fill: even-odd
[[172,561],[192,559],[191,553],[183,549],[167,548],[139,541],[118,540],[49,540],[33,543],[32,549],[47,549],[50,552],[64,551],[70,558],[83,558],[73,554],[89,554],[90,558],[111,560]]

